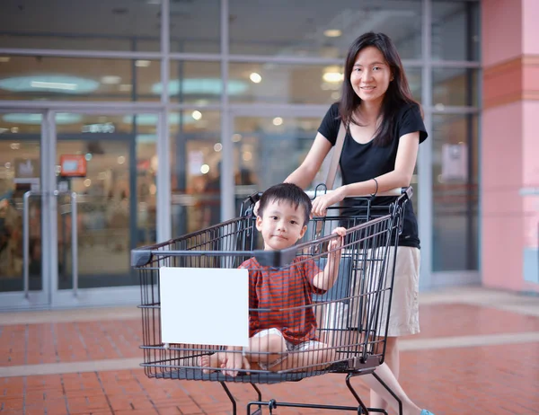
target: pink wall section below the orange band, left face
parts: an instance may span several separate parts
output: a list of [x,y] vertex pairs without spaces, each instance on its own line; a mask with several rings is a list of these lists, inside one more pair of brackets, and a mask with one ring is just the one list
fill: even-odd
[[[482,116],[482,283],[522,287],[522,103]],[[511,166],[513,168],[511,168]]]

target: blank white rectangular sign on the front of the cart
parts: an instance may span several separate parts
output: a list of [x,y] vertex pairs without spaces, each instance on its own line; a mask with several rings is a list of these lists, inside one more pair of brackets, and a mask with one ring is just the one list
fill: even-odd
[[247,269],[159,271],[163,343],[249,346]]

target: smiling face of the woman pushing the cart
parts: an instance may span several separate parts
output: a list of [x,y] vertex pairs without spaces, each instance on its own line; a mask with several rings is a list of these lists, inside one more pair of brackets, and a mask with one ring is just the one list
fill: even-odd
[[391,69],[379,49],[368,46],[359,51],[350,83],[362,101],[381,104],[392,80]]

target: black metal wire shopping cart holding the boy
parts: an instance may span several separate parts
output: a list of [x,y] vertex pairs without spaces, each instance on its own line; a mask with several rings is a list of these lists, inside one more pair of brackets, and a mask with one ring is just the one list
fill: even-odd
[[[389,206],[376,206],[376,200],[380,199],[353,198],[345,199],[340,207],[330,207],[327,216],[314,217],[310,221],[302,241],[282,251],[261,250],[261,235],[256,229],[255,217],[252,216],[252,207],[259,195],[245,200],[241,216],[237,218],[166,243],[134,250],[132,265],[137,269],[141,287],[139,308],[142,311],[141,349],[144,352],[144,363],[141,366],[144,366],[146,375],[158,379],[219,382],[232,402],[234,414],[236,401],[226,383],[252,385],[258,399],[247,404],[248,414],[252,413],[252,407],[256,407],[253,413],[260,414],[262,406],[267,406],[270,413],[277,407],[356,411],[359,414],[367,414],[368,411],[386,413],[380,409],[367,409],[350,384],[350,379],[372,374],[399,401],[376,375],[375,369],[384,362],[395,260],[391,252],[396,248],[404,208],[412,191],[406,188],[387,194],[399,196],[393,196]],[[353,209],[354,216],[349,216],[347,209]],[[224,344],[195,344],[190,341],[163,343],[164,295],[170,298],[170,293],[164,293],[161,287],[163,275],[160,274],[163,274],[163,269],[193,272],[195,269],[213,269],[216,272],[217,269],[237,269],[245,260],[252,258],[256,259],[255,263],[260,269],[250,269],[251,275],[253,272],[277,269],[286,277],[287,272],[292,272],[294,267],[305,266],[308,269],[307,265],[313,264],[313,269],[323,269],[331,254],[328,252],[329,242],[339,237],[331,234],[331,230],[338,225],[347,227],[347,234],[342,242],[339,276],[331,289],[325,293],[314,293],[308,305],[299,308],[287,306],[284,299],[277,308],[249,308],[250,317],[255,314],[268,316],[269,313],[293,313],[305,318],[306,314],[314,314],[316,336],[328,345],[327,349],[296,351],[297,356],[311,353],[308,357],[305,355],[305,358],[297,359],[302,362],[299,366],[269,367],[254,363],[251,367],[238,368],[237,374],[230,375],[221,367],[222,361],[217,357],[248,358],[249,353],[245,354],[241,348]],[[205,294],[178,292],[174,296],[176,302],[181,302],[182,298],[187,301],[188,298],[198,297],[197,301],[206,312],[208,308],[213,309],[213,312],[209,310],[210,313],[223,311],[226,303],[212,304]],[[193,309],[192,313],[176,315],[175,318],[178,322],[189,320],[200,310],[199,307]],[[201,331],[214,329],[216,327],[199,328]],[[285,349],[280,350],[278,356],[275,350],[271,356],[264,356],[270,352],[264,352],[263,349],[261,346],[257,355],[259,362],[282,362],[291,356],[290,351]],[[257,387],[257,384],[300,381],[327,373],[346,375],[345,382],[358,406],[276,402],[273,399],[262,401],[261,391]]]

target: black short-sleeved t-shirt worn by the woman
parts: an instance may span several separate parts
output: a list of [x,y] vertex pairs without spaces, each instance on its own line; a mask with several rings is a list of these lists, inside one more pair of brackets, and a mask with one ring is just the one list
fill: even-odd
[[[324,116],[318,132],[330,141],[331,146],[335,146],[339,126],[339,104],[334,103]],[[400,138],[416,131],[420,133],[420,143],[425,141],[428,134],[421,118],[420,108],[416,104],[404,105],[402,110],[397,113],[393,140],[387,146],[375,146],[373,141],[359,144],[347,131],[340,155],[342,184],[368,181],[387,172],[393,172]],[[373,206],[388,206],[394,200],[394,197],[378,197],[374,200]],[[343,212],[343,214],[345,213]],[[353,216],[354,212],[347,209],[346,215]],[[411,200],[406,204],[404,210],[404,223],[399,245],[420,247],[418,221]]]

